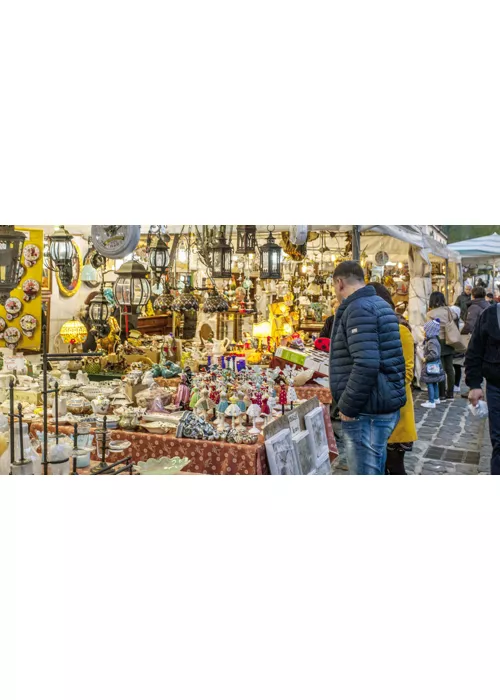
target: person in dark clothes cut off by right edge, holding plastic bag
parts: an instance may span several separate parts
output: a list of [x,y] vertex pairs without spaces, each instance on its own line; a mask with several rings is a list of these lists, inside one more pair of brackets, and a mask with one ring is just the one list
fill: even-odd
[[490,439],[491,473],[500,474],[500,304],[486,309],[476,323],[465,355],[465,382],[470,388],[473,406],[484,399],[482,388],[486,380],[486,401]]

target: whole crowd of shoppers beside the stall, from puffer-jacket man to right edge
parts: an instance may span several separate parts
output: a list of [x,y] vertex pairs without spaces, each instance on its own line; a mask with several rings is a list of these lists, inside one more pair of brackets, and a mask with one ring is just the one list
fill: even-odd
[[[321,332],[330,343],[330,388],[353,474],[405,474],[404,457],[417,439],[412,397],[415,343],[382,284],[366,284],[358,263],[335,268],[339,306]],[[500,305],[483,285],[467,285],[454,306],[441,292],[429,298],[422,352],[422,404],[432,409],[460,391],[465,363],[473,405],[485,396],[493,445],[492,474],[500,474]],[[468,342],[470,339],[470,342]],[[468,349],[467,349],[468,344]]]

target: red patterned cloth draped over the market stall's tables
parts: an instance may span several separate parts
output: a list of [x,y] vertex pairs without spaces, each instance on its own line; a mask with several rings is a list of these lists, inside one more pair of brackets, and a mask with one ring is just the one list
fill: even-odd
[[[330,459],[333,460],[338,451],[327,406],[323,406],[323,414]],[[41,432],[42,430],[41,423],[32,423],[31,432],[33,435],[35,431]],[[49,430],[53,432],[54,427],[49,426]],[[60,426],[59,431],[67,435],[73,435],[74,432],[72,426],[65,425]],[[154,435],[130,430],[110,430],[109,439],[129,440],[132,443],[124,452],[111,452],[107,459],[110,464],[128,455],[131,455],[134,462],[145,462],[151,457],[158,458],[165,455],[168,457],[187,457],[190,463],[184,467],[183,471],[196,474],[269,474],[263,435],[259,435],[259,440],[255,445],[191,440],[190,438],[176,438],[169,434]],[[97,459],[95,452],[92,453],[91,459]]]

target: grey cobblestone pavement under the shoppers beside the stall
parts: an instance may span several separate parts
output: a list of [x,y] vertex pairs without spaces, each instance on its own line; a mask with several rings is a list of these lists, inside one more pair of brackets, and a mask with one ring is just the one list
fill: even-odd
[[[422,408],[427,392],[415,392],[415,420],[418,440],[413,451],[405,456],[408,474],[489,474],[491,444],[487,421],[474,420],[467,408],[467,399],[460,394],[436,408]],[[334,421],[335,436],[341,435],[339,421]],[[347,474],[342,446],[333,463],[334,474]]]

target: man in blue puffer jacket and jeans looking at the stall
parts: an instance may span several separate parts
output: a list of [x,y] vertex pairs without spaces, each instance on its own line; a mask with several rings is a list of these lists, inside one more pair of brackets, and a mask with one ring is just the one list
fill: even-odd
[[358,263],[335,268],[341,302],[330,347],[330,388],[342,421],[349,470],[384,474],[387,440],[406,403],[399,323],[389,304],[365,285]]

